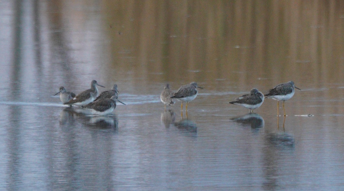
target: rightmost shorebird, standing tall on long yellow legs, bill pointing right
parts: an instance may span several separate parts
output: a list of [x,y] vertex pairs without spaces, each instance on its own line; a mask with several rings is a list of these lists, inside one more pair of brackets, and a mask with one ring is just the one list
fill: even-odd
[[277,102],[277,116],[279,115],[278,108],[279,108],[280,101],[283,101],[283,111],[284,111],[284,116],[286,116],[286,110],[284,109],[284,101],[293,97],[295,93],[294,88],[300,89],[294,85],[294,82],[289,81],[287,83],[280,84],[274,87],[273,89],[270,89],[269,92],[265,94],[266,98],[272,98],[278,101]]

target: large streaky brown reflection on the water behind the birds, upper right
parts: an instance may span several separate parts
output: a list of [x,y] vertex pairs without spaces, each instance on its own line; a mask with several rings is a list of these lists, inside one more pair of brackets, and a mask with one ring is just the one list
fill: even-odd
[[104,1],[103,10],[112,65],[133,78],[343,82],[343,1]]

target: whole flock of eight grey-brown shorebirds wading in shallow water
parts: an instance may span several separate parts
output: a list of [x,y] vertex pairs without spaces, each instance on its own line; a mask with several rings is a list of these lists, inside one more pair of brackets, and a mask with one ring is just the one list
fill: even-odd
[[[97,81],[93,80],[91,82],[91,88],[79,93],[78,95],[75,95],[72,92],[67,92],[66,88],[61,86],[60,91],[57,92],[55,95],[60,93],[60,100],[64,105],[81,107],[89,110],[94,115],[108,115],[112,113],[116,108],[116,102],[124,104],[123,102],[118,100],[118,90],[116,84],[112,87],[112,89],[101,92],[99,95],[97,86],[104,87],[102,85],[99,85]],[[202,87],[197,86],[196,82],[192,82],[190,84],[181,86],[177,90],[177,92],[174,93],[170,89],[169,84],[166,84],[164,90],[161,92],[160,95],[161,102],[164,104],[166,109],[166,106],[175,104],[175,99],[180,100],[182,102],[182,111],[183,102],[186,102],[185,110],[187,112],[187,105],[189,104],[189,102],[194,100],[198,94],[197,88],[203,89]],[[243,106],[247,109],[250,109],[250,112],[253,112],[254,109],[260,107],[261,104],[264,102],[264,97],[272,98],[278,101],[277,115],[279,115],[279,102],[283,101],[283,111],[284,116],[286,116],[284,101],[293,97],[295,93],[294,88],[299,89],[294,85],[294,82],[292,81],[277,85],[276,87],[270,89],[265,95],[259,92],[257,88],[253,88],[251,89],[250,94],[237,97],[229,103]]]

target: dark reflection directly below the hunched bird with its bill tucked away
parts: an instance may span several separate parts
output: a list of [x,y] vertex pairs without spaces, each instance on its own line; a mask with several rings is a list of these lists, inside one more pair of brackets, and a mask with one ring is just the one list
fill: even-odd
[[249,113],[240,117],[234,117],[232,120],[241,123],[244,126],[251,126],[252,129],[259,129],[264,127],[264,119],[256,113]]

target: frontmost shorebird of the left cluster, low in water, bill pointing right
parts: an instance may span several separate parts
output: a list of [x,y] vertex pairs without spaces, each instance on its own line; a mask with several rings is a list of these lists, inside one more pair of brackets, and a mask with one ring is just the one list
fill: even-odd
[[[90,112],[94,115],[108,115],[111,112],[114,111],[116,108],[116,101],[120,102],[116,96],[112,96],[110,99],[105,98],[105,99],[98,99],[95,102],[89,103],[83,108],[89,109]],[[120,102],[122,103],[122,102]],[[124,104],[124,103],[122,103]],[[124,104],[126,105],[126,104]]]

